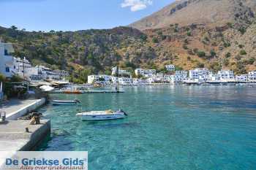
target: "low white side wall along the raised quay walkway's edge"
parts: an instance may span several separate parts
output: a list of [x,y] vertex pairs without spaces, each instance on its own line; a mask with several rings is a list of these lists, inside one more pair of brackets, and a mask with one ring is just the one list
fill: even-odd
[[18,109],[16,112],[13,112],[11,115],[8,115],[7,120],[17,120],[18,117],[22,117],[23,115],[26,115],[29,112],[32,112],[33,110],[39,107],[42,107],[42,105],[45,104],[45,101],[46,101],[45,98],[41,98],[37,101],[34,101],[28,106]]

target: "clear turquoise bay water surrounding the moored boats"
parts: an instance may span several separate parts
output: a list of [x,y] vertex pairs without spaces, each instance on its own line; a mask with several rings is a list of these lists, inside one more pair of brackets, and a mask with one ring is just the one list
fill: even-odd
[[89,151],[89,169],[256,169],[256,88],[158,86],[78,98],[83,110],[118,109],[124,120],[82,122],[81,107],[40,110],[51,119],[40,150]]

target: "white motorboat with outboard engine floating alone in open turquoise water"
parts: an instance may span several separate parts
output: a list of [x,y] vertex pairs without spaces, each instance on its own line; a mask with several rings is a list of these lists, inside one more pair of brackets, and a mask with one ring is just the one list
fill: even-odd
[[123,119],[127,116],[127,113],[119,109],[118,111],[106,110],[106,111],[91,111],[78,113],[82,120],[97,121],[97,120],[116,120]]

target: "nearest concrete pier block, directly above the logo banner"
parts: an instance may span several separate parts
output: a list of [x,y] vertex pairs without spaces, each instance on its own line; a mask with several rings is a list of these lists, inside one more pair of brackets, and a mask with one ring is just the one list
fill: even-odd
[[[29,125],[30,121],[10,120],[0,124],[1,151],[29,151],[50,134],[50,120],[40,120],[39,125]],[[29,128],[29,133],[25,128]]]

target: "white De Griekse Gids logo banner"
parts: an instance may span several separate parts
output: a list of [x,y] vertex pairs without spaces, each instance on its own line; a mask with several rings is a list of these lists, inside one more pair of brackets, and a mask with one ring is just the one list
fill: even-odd
[[1,170],[88,170],[88,152],[0,151]]

